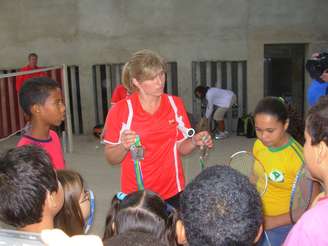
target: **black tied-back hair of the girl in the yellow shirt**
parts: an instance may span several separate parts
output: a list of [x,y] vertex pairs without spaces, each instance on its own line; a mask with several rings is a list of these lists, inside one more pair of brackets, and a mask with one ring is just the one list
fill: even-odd
[[300,144],[304,144],[304,120],[296,108],[292,104],[286,103],[283,98],[264,97],[255,107],[254,117],[257,114],[272,115],[282,124],[285,124],[289,120],[287,132]]

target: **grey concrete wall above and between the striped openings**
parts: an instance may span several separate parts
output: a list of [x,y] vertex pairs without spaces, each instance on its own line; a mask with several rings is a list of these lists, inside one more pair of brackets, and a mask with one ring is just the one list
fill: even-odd
[[263,45],[327,48],[326,0],[3,0],[0,68],[80,66],[85,131],[94,125],[91,66],[149,48],[178,62],[179,93],[192,105],[191,61],[247,60],[248,102],[263,95]]

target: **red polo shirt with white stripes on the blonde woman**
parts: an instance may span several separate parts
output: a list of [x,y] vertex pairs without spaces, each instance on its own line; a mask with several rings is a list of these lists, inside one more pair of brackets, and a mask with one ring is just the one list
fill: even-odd
[[[177,128],[178,123],[168,95],[163,94],[161,97],[159,109],[154,114],[143,110],[138,93],[133,93],[129,97],[133,107],[130,129],[140,136],[144,148],[144,160],[140,161],[144,188],[168,199],[182,191],[185,186],[182,162],[177,150],[177,142],[185,138]],[[185,126],[189,128],[190,123],[182,100],[179,97],[172,97],[178,115],[182,116]],[[107,144],[120,143],[120,132],[129,115],[127,100],[118,102],[108,112],[104,134],[104,141]],[[122,162],[121,186],[124,193],[138,190],[130,153]]]

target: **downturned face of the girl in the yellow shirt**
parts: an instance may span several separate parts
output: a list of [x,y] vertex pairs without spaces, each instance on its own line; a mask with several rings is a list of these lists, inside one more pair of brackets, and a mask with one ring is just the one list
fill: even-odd
[[257,138],[267,147],[280,147],[286,144],[288,122],[283,124],[276,116],[259,113],[255,116]]

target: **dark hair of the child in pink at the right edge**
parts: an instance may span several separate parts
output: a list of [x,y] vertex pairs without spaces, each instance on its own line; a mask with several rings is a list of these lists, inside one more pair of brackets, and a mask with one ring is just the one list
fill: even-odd
[[306,130],[311,136],[312,145],[321,141],[328,145],[328,96],[321,97],[307,112]]

